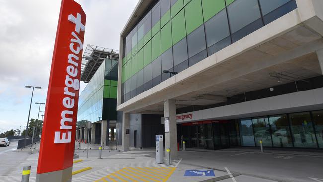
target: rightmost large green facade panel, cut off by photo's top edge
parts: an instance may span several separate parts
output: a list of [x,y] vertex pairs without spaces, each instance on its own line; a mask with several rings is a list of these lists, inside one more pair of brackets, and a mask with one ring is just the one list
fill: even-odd
[[224,0],[202,0],[204,22],[226,7]]

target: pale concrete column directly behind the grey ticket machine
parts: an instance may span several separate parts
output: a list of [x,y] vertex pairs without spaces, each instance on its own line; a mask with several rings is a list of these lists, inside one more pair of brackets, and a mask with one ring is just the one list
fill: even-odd
[[169,118],[169,132],[165,132],[165,149],[170,148],[170,159],[178,158],[175,100],[164,100],[164,115]]

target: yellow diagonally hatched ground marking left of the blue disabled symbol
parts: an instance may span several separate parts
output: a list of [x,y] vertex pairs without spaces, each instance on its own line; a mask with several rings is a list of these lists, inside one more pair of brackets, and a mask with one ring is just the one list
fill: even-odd
[[175,167],[127,167],[95,182],[166,182]]

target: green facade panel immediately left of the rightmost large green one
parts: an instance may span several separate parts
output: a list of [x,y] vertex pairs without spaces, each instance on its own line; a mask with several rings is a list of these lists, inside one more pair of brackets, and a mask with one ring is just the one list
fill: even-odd
[[203,24],[201,0],[192,0],[185,7],[187,35]]

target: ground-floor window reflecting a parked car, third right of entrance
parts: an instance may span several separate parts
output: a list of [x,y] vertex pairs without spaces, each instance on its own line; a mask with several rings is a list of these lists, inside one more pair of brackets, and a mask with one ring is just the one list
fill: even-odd
[[287,115],[269,116],[274,147],[293,147]]

